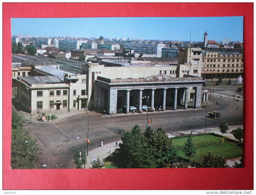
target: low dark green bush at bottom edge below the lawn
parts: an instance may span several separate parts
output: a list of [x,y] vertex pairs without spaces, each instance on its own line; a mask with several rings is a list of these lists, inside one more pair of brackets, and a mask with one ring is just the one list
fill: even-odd
[[208,154],[202,154],[200,157],[200,161],[194,161],[191,166],[196,168],[228,167],[227,160],[224,157],[220,156],[219,154],[213,154],[212,152],[209,152]]

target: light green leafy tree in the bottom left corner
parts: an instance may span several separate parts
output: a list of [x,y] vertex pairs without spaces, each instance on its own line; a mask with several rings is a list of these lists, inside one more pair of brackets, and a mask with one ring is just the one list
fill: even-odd
[[35,169],[39,160],[37,140],[31,138],[30,132],[21,126],[22,118],[12,114],[12,169]]

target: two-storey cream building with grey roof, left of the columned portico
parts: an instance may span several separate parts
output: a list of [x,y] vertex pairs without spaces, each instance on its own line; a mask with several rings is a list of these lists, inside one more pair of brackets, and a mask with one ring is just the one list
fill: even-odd
[[86,75],[18,76],[15,106],[28,112],[81,109],[88,105]]

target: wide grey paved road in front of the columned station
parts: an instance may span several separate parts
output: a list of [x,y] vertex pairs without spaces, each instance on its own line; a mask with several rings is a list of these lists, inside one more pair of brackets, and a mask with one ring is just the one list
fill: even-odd
[[[209,90],[209,89],[208,89]],[[211,89],[212,92],[212,89]],[[183,130],[196,130],[217,127],[223,120],[230,126],[243,124],[243,101],[232,98],[234,88],[215,87],[211,93],[211,103],[206,108],[199,108],[197,112],[193,108],[187,110],[167,110],[148,113],[148,123],[152,129],[161,127],[167,133]],[[226,98],[219,94],[228,95]],[[231,98],[229,98],[231,95]],[[238,94],[243,96],[243,92]],[[214,101],[220,102],[214,104]],[[209,118],[207,112],[218,110],[222,116],[216,119]],[[138,124],[142,130],[146,129],[146,112],[143,114],[118,114],[106,116],[96,112],[89,112],[89,151],[97,148],[100,142],[105,144],[121,140],[124,130],[131,130]],[[207,116],[207,117],[206,117]],[[85,139],[87,137],[87,113],[75,115],[54,123],[24,123],[24,128],[29,130],[38,139],[38,146],[42,149],[40,166],[45,168],[74,168],[73,156],[76,147],[87,150]],[[122,132],[119,132],[122,129]],[[79,139],[78,139],[79,138]],[[88,159],[88,161],[90,161]]]

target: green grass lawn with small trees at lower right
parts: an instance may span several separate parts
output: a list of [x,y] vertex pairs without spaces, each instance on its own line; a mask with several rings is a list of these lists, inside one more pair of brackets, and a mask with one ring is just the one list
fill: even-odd
[[[222,139],[224,142],[222,143]],[[182,147],[187,140],[187,137],[173,138],[172,144],[178,147],[178,156],[188,160],[182,152]],[[243,147],[237,141],[223,138],[218,135],[206,134],[195,135],[192,137],[196,145],[196,153],[194,157],[190,158],[190,162],[199,161],[201,154],[207,154],[208,152],[219,153],[219,155],[225,158],[235,158],[243,156]]]

